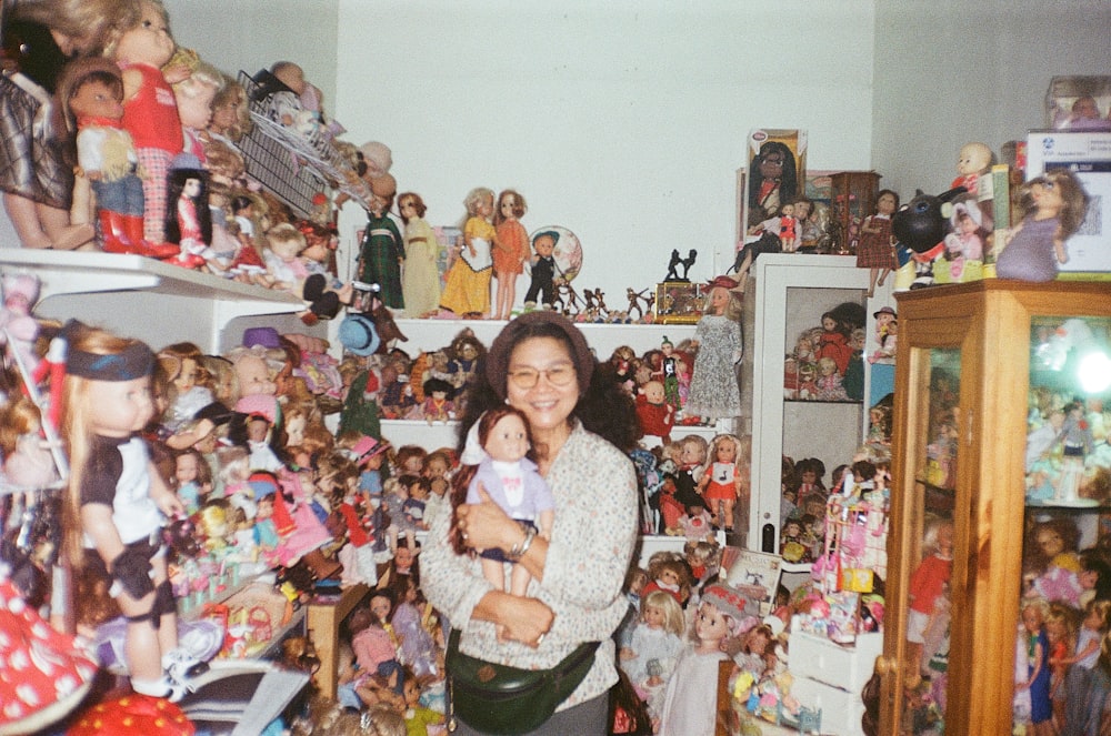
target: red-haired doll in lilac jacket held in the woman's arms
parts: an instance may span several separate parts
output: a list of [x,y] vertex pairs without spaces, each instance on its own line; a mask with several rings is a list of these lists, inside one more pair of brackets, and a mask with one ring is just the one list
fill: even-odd
[[[551,538],[556,522],[556,498],[537,464],[528,457],[531,447],[526,416],[508,405],[492,409],[471,426],[460,457],[462,467],[452,481],[452,508],[460,503],[482,503],[489,496],[526,530],[522,544],[526,547],[537,534]],[[462,546],[463,540],[458,542],[457,548]],[[497,589],[507,589],[503,563],[513,561],[501,550],[487,550],[480,556],[482,575]],[[524,565],[514,564],[508,589],[523,596],[531,581],[532,575]]]

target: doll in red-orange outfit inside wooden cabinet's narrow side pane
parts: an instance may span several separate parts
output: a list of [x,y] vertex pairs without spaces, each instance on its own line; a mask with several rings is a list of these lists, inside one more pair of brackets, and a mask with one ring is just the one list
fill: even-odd
[[953,523],[935,520],[922,540],[925,556],[911,573],[907,613],[907,661],[914,666],[914,677],[925,666],[932,652],[925,652],[925,633],[939,599],[948,597],[949,575],[953,565]]

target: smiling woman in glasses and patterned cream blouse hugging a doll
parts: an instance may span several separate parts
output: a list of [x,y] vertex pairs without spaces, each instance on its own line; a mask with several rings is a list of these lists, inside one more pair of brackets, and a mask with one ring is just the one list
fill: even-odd
[[[533,537],[488,498],[438,513],[421,555],[422,589],[461,629],[461,652],[482,659],[550,668],[580,644],[601,642],[583,680],[529,733],[604,734],[608,692],[618,679],[610,637],[628,609],[621,585],[637,537],[637,480],[622,452],[638,432],[632,401],[582,334],[552,312],[531,312],[501,331],[469,396],[461,438],[498,404],[526,414],[556,497],[556,523],[550,541]],[[496,589],[477,556],[457,555],[453,525],[472,550],[523,548],[518,564],[533,577],[529,595]],[[457,734],[481,733],[457,719]]]

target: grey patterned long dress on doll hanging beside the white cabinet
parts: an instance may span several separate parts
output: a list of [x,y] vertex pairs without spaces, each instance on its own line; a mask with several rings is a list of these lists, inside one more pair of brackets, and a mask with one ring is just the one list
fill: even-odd
[[683,414],[714,422],[741,413],[734,364],[741,352],[741,325],[724,315],[707,314],[694,331],[699,341]]

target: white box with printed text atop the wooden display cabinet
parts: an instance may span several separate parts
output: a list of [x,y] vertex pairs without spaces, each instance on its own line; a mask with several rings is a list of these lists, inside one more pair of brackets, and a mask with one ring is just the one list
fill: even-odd
[[1065,248],[1069,262],[1059,279],[1111,280],[1111,132],[1031,131],[1027,139],[1027,181],[1048,169],[1065,168],[1088,193],[1088,214]]

